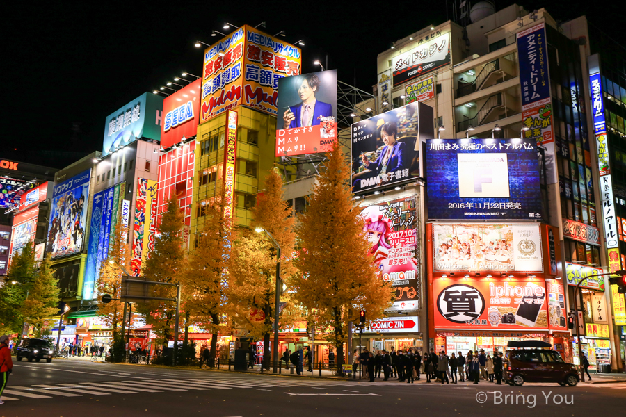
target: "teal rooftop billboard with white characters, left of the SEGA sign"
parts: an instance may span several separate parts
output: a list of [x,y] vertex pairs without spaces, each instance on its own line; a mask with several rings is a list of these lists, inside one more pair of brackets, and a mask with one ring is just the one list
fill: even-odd
[[102,156],[138,138],[161,139],[163,97],[144,92],[106,117]]

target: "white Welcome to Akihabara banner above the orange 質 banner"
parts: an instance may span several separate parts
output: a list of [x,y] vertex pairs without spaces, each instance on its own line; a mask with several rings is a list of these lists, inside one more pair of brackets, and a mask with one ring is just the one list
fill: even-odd
[[537,223],[433,224],[435,271],[543,272]]

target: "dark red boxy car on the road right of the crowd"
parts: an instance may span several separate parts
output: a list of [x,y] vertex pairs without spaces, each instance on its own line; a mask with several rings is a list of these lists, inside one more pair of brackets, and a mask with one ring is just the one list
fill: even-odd
[[520,386],[524,382],[556,382],[575,386],[580,378],[573,363],[543,341],[509,341],[504,355],[504,382]]

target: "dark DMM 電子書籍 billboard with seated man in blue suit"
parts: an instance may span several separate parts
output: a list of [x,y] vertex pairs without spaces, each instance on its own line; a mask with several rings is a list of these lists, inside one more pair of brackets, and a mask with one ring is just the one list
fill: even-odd
[[433,137],[433,120],[426,113],[432,116],[432,108],[412,103],[352,124],[355,193],[420,177],[420,137]]

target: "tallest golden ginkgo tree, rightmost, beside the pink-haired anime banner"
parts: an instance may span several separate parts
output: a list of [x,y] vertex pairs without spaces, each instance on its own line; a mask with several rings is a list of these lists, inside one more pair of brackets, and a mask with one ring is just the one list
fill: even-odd
[[382,317],[393,290],[368,254],[371,245],[353,203],[344,152],[335,143],[326,156],[307,210],[298,216],[299,254],[294,263],[302,273],[291,277],[290,284],[295,300],[314,312],[319,327],[329,329],[326,340],[337,349],[341,374],[348,322],[357,320],[360,310],[367,311],[368,320]]

